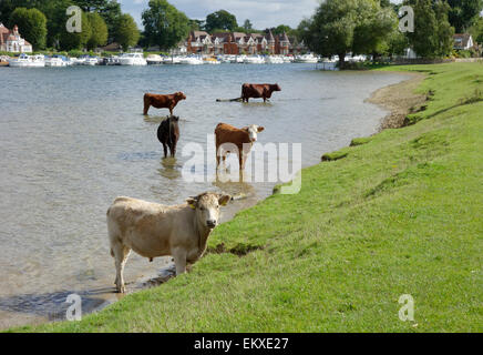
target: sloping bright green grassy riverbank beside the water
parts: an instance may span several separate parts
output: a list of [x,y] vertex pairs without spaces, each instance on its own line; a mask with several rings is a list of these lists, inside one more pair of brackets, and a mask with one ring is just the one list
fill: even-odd
[[[189,274],[16,331],[482,332],[483,65],[397,69],[428,74],[415,124],[304,170],[299,194],[219,226]],[[414,322],[398,317],[402,294]]]

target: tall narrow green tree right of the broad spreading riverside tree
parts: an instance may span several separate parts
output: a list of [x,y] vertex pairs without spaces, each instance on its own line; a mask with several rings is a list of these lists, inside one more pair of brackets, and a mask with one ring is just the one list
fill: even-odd
[[454,29],[448,21],[449,4],[444,1],[405,0],[414,10],[414,32],[409,43],[418,55],[441,58],[452,52]]

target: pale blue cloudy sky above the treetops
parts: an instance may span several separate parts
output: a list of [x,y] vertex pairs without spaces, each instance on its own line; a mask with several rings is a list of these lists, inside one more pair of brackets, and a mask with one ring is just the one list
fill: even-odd
[[[392,2],[400,2],[393,0]],[[147,8],[148,0],[117,0],[123,12],[131,13],[142,28],[141,13]],[[191,19],[206,19],[206,16],[226,10],[236,16],[239,26],[246,19],[255,29],[266,29],[279,24],[297,28],[304,18],[314,14],[319,0],[168,0]]]

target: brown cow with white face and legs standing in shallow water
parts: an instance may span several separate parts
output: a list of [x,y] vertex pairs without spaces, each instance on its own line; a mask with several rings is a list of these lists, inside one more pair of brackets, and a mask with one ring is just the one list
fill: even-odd
[[263,130],[265,130],[263,126],[256,124],[237,129],[227,123],[219,123],[215,129],[216,168],[219,165],[219,158],[225,162],[227,153],[237,153],[239,170],[244,170],[251,145],[257,141],[257,133]]

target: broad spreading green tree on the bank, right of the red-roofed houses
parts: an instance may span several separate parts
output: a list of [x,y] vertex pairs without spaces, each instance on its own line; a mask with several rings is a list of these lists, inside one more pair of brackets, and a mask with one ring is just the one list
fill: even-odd
[[339,55],[343,68],[348,52],[373,53],[394,30],[394,12],[378,0],[327,0],[298,28],[310,50],[325,57]]

